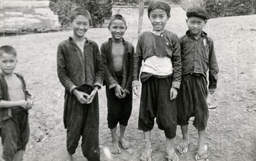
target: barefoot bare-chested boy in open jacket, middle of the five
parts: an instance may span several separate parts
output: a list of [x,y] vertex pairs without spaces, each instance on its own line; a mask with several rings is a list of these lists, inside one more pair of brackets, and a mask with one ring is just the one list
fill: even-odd
[[[126,21],[120,14],[112,16],[109,31],[112,38],[101,46],[106,98],[108,100],[108,127],[111,131],[113,154],[121,153],[118,142],[123,149],[131,147],[124,138],[125,129],[132,112],[132,58],[134,47],[123,39]],[[117,123],[120,126],[117,138]]]

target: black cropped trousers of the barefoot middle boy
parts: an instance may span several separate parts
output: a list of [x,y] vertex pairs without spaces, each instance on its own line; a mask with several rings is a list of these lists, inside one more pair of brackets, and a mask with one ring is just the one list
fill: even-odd
[[[122,76],[117,77],[119,84],[122,83]],[[119,99],[115,94],[115,87],[109,89],[106,86],[106,99],[108,101],[108,127],[113,129],[119,122],[120,125],[127,126],[132,113],[132,91],[125,98]]]

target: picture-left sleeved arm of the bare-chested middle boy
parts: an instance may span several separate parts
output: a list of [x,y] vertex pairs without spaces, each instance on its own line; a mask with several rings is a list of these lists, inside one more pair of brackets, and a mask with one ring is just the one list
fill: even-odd
[[104,48],[104,44],[101,46],[101,57],[102,57],[102,66],[104,70],[104,79],[106,81],[106,85],[109,85],[109,89],[115,87],[118,83],[112,77],[109,70],[109,59],[108,59],[108,51]]

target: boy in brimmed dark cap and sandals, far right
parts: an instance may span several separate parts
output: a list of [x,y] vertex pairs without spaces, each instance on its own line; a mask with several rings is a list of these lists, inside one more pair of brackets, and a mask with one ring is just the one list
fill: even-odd
[[[214,52],[214,42],[202,29],[209,19],[202,8],[191,8],[187,12],[189,30],[181,36],[182,78],[177,94],[177,123],[181,126],[182,141],[177,146],[180,153],[188,151],[188,121],[194,118],[193,125],[198,130],[198,150],[196,160],[207,159],[207,145],[204,133],[209,117],[207,95],[217,87],[218,64]],[[207,71],[209,69],[209,86]]]

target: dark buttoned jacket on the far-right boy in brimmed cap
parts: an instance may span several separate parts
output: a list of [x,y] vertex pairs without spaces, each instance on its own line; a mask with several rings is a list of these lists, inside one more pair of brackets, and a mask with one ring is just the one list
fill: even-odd
[[216,60],[214,41],[202,32],[196,40],[189,31],[179,38],[181,46],[182,75],[202,74],[207,77],[209,69],[209,89],[216,89],[218,79],[218,63]]

